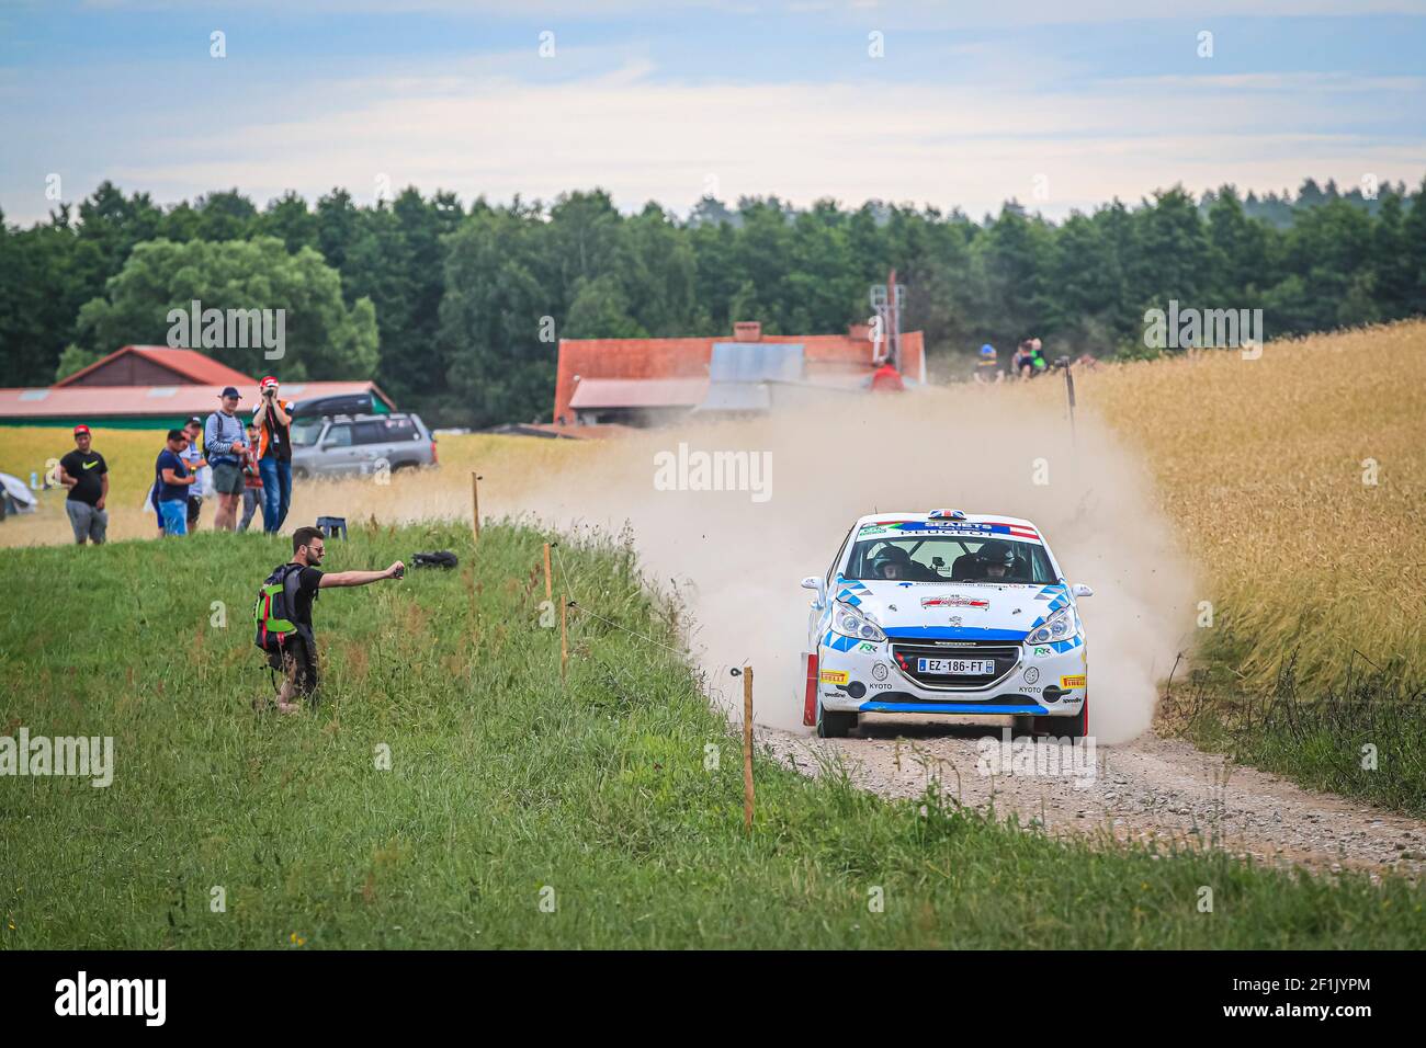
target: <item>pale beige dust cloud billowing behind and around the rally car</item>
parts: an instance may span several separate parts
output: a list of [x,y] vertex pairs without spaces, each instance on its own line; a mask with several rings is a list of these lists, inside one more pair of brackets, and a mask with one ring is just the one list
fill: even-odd
[[[670,468],[680,443],[767,452],[770,473],[753,478],[764,488],[660,489],[659,466]],[[462,499],[469,512],[468,490],[438,490],[428,488],[415,516],[459,513]],[[600,442],[576,469],[495,490],[492,505],[482,498],[482,516],[529,512],[559,528],[612,532],[629,523],[645,570],[680,583],[696,623],[690,646],[714,700],[740,710],[742,684],[727,670],[750,663],[754,719],[773,727],[801,730],[799,656],[811,593],[799,583],[826,573],[864,513],[955,508],[1034,520],[1068,580],[1095,590],[1081,613],[1101,743],[1149,726],[1156,684],[1192,625],[1188,562],[1131,451],[1082,409],[1071,435],[1062,406],[1012,389],[841,395],[752,421],[646,431]]]

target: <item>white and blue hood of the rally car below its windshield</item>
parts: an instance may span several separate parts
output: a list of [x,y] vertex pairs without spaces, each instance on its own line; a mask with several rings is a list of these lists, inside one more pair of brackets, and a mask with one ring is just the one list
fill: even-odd
[[833,596],[868,616],[888,637],[1022,640],[1070,603],[1064,585],[994,586],[954,582],[850,582]]

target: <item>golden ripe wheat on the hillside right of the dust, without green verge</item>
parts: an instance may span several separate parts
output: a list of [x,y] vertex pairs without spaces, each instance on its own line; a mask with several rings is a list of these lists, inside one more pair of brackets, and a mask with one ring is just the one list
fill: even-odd
[[1293,653],[1316,683],[1353,649],[1426,669],[1426,322],[1099,368],[1078,391],[1147,455],[1245,686]]

